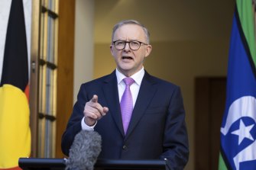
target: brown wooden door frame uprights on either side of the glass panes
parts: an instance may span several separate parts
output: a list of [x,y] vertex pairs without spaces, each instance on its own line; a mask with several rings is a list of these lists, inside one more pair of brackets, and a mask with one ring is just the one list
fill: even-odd
[[[66,123],[73,107],[73,60],[74,60],[74,23],[75,3],[67,0],[59,2],[58,61],[57,61],[57,158],[63,158],[60,143]],[[31,76],[30,76],[30,127],[31,157],[37,157],[38,151],[38,88],[39,56],[41,32],[41,0],[32,1],[31,19]]]

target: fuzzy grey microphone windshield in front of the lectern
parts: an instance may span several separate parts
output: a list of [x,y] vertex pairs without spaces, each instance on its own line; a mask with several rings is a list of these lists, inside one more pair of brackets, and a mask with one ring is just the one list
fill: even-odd
[[102,137],[96,131],[81,130],[76,134],[66,159],[66,170],[93,170],[102,151]]

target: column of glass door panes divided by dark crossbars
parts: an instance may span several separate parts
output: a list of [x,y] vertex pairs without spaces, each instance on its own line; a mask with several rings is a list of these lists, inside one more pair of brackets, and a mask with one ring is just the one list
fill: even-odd
[[[53,68],[57,60],[57,19],[49,16],[56,11],[58,1],[44,0],[42,5],[47,11],[41,14],[41,66],[39,73],[39,114],[38,120],[38,157],[53,158],[55,156],[56,123],[52,116],[56,115],[57,69]],[[42,64],[44,63],[44,65]]]

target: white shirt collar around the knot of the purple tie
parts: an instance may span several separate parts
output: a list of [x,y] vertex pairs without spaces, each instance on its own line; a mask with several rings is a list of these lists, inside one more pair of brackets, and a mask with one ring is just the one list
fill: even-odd
[[[140,71],[136,72],[134,75],[131,75],[131,78],[134,79],[134,82],[136,82],[138,85],[141,85],[144,74],[145,74],[145,70],[144,70],[144,67],[142,67]],[[118,85],[126,77],[125,75],[122,74],[122,72],[119,72],[118,69],[115,69],[115,75],[118,81]]]

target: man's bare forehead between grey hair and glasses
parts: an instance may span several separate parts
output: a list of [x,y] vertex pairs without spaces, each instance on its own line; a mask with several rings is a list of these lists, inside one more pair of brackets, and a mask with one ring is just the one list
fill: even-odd
[[136,24],[125,24],[115,30],[114,40],[145,40],[142,27]]

